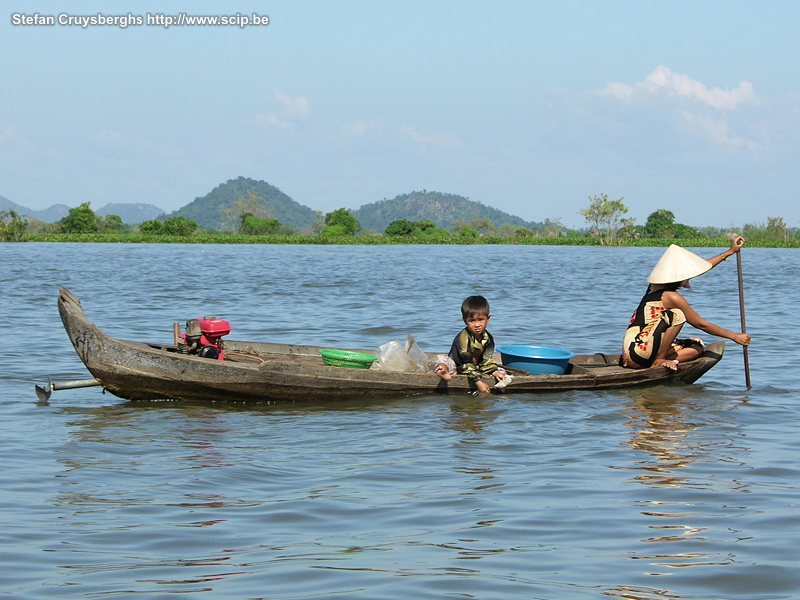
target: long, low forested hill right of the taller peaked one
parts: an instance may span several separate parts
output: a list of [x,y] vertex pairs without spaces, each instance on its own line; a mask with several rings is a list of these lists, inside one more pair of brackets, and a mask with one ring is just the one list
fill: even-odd
[[389,223],[397,219],[433,221],[442,229],[448,229],[454,221],[469,222],[474,219],[488,219],[495,227],[505,223],[519,227],[532,225],[520,217],[463,196],[426,190],[365,204],[352,211],[352,214],[358,219],[362,228],[373,229],[380,233],[383,233]]

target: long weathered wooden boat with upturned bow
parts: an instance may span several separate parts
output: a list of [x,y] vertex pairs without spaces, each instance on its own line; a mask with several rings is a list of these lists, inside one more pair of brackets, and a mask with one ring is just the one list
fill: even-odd
[[[327,366],[316,346],[226,340],[225,360],[214,360],[181,353],[179,344],[115,339],[89,322],[80,300],[64,288],[60,290],[58,309],[78,356],[95,378],[84,383],[101,385],[115,396],[129,400],[323,401],[472,391],[464,375],[443,381],[433,373]],[[514,380],[504,392],[602,390],[671,381],[693,383],[719,362],[724,348],[724,342],[711,344],[701,357],[679,365],[677,371],[624,369],[617,366],[619,356],[600,353],[575,356],[564,375],[514,371]],[[435,356],[428,354],[431,360]],[[52,389],[65,387],[83,386],[52,384],[48,396]]]

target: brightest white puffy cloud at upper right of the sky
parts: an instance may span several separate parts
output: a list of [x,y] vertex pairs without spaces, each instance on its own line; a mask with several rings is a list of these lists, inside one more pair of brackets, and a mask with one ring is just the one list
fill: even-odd
[[625,83],[609,83],[599,92],[603,96],[611,96],[619,100],[631,101],[644,99],[656,94],[666,94],[671,98],[696,100],[718,110],[734,110],[741,105],[756,105],[759,98],[749,81],[742,81],[739,87],[730,89],[708,87],[682,73],[660,66],[650,73],[644,81],[628,85]]

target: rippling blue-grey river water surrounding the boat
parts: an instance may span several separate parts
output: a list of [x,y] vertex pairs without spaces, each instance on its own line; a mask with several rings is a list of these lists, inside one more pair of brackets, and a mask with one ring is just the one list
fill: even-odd
[[[166,343],[173,322],[213,314],[232,339],[413,334],[446,351],[461,300],[483,294],[498,343],[616,353],[662,252],[0,244],[0,595],[799,598],[797,250],[743,252],[749,391],[729,342],[697,384],[642,390],[254,406],[34,394],[48,375],[89,377],[59,286],[127,339]],[[687,294],[738,329],[735,260]]]

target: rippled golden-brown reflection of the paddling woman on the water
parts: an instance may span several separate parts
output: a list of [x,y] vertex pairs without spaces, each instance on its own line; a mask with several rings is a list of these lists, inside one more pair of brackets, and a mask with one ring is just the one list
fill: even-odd
[[[717,530],[715,525],[730,518],[728,494],[747,491],[747,486],[738,480],[726,482],[718,477],[719,471],[707,481],[699,480],[698,473],[703,472],[699,468],[703,463],[733,462],[731,450],[738,446],[720,435],[720,425],[724,424],[705,422],[705,407],[693,391],[664,387],[629,394],[621,411],[628,418],[625,426],[633,430],[627,443],[641,451],[638,456],[642,457],[626,468],[637,472],[633,482],[655,488],[655,493],[635,504],[649,521],[648,535],[638,541],[651,547],[656,544],[660,550],[630,553],[633,560],[647,561],[647,575],[670,575],[687,567],[736,562],[732,553],[705,552],[703,548],[725,544],[730,528]],[[705,432],[708,428],[716,429],[713,435]],[[713,495],[708,496],[708,492]],[[620,589],[607,595],[649,598],[651,592]]]

